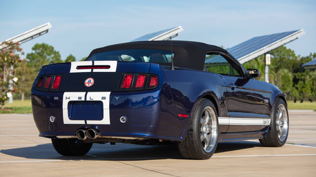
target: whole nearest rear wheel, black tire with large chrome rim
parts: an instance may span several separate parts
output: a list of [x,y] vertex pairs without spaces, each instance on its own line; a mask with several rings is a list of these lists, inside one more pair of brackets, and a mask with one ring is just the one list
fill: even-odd
[[219,134],[214,104],[201,99],[193,110],[192,122],[183,142],[178,143],[181,155],[190,159],[209,159],[217,147]]

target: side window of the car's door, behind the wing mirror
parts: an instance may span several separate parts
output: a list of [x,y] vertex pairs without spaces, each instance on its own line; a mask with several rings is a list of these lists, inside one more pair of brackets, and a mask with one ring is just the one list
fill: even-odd
[[227,59],[221,55],[207,54],[205,56],[204,66],[208,72],[240,76],[240,73],[237,71],[238,68],[234,68]]

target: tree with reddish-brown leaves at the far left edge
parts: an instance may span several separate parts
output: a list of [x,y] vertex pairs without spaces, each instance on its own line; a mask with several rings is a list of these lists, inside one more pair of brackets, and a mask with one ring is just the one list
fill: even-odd
[[[23,52],[19,43],[4,41],[1,45],[4,47],[0,50],[0,105],[1,109],[4,109],[5,101],[15,91],[13,87],[17,81],[16,68],[25,60],[20,59],[19,54],[23,55]],[[11,84],[12,90],[9,89],[9,84]]]

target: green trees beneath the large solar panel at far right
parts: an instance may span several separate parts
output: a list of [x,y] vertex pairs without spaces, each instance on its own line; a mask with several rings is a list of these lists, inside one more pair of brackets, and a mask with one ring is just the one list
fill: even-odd
[[[271,54],[269,81],[281,89],[290,99],[316,98],[316,71],[306,70],[302,65],[316,59],[316,53],[301,57],[291,49],[281,46]],[[258,80],[264,80],[265,56],[243,64],[246,68],[258,68],[262,73]]]

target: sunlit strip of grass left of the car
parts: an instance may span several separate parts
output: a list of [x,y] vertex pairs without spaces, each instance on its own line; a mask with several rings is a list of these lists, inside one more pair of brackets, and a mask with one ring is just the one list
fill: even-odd
[[32,113],[31,100],[13,100],[13,103],[6,103],[4,105],[5,109],[10,110],[0,110],[0,114],[10,114],[10,113],[18,113],[18,114],[26,114]]

